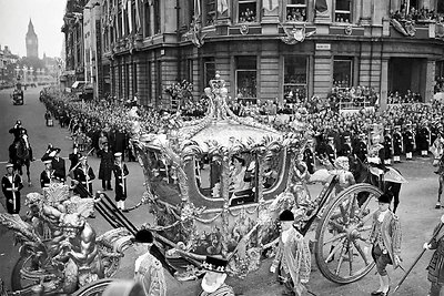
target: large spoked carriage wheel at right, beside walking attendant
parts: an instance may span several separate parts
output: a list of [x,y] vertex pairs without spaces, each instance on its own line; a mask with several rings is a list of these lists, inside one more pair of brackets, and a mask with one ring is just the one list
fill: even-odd
[[316,228],[315,258],[321,273],[337,284],[364,277],[374,266],[365,242],[382,192],[370,184],[356,184],[339,194],[325,207]]

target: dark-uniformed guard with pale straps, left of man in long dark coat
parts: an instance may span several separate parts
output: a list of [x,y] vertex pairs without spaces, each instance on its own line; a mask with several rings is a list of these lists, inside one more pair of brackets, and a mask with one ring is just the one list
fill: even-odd
[[[82,198],[92,196],[92,181],[95,178],[92,167],[88,164],[85,155],[81,155],[80,164],[72,171],[72,182],[74,183],[74,194]],[[82,186],[79,186],[82,184]]]

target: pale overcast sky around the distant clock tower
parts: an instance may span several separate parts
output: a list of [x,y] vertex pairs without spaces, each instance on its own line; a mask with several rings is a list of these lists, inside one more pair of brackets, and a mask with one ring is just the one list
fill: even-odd
[[67,0],[0,0],[0,45],[12,53],[27,55],[24,38],[31,18],[39,39],[39,58],[60,57]]

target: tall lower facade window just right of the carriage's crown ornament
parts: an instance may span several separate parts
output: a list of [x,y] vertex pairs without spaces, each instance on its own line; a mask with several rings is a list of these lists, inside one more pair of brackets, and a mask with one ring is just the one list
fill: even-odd
[[256,57],[236,58],[236,98],[242,101],[256,103],[258,98],[258,64]]

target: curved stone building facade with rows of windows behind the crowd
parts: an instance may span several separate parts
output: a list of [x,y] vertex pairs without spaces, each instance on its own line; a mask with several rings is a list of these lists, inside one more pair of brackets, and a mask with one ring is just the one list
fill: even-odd
[[113,96],[158,108],[174,81],[199,98],[215,71],[232,99],[252,102],[356,85],[374,88],[382,106],[394,91],[427,101],[443,72],[441,2],[104,0],[103,75]]

